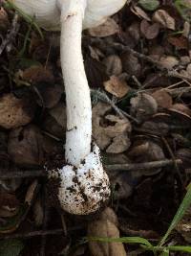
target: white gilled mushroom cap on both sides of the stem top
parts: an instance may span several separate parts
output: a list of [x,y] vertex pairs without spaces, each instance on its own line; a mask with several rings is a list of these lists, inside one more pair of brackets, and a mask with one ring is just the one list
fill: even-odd
[[[60,10],[70,9],[71,0],[11,0],[19,9],[35,16],[39,26],[46,30],[60,29]],[[80,0],[86,5],[83,29],[96,27],[120,10],[127,0]]]

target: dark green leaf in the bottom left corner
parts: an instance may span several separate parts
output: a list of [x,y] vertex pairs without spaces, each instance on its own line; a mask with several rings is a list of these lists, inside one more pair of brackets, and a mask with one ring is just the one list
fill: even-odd
[[0,242],[0,256],[18,256],[24,244],[17,239],[11,239]]

